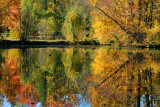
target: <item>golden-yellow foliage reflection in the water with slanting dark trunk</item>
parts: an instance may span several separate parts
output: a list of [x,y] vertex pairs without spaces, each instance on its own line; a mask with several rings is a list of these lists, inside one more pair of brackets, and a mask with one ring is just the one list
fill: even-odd
[[[111,54],[112,53],[112,54]],[[88,81],[93,107],[158,106],[159,52],[99,49]]]

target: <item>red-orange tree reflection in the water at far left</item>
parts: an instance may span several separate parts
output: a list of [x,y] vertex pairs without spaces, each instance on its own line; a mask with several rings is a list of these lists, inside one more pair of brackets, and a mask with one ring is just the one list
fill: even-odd
[[[20,82],[19,74],[19,51],[8,50],[4,52],[0,63],[0,91],[4,94],[8,102],[18,101],[21,104],[31,105],[37,103],[35,89],[31,86],[24,86]],[[30,106],[33,107],[33,104]]]

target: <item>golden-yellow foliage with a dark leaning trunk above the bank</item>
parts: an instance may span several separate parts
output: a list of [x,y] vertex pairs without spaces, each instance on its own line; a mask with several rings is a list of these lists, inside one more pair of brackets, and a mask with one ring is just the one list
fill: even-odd
[[145,43],[148,36],[156,35],[159,32],[159,7],[155,0],[141,0],[140,3],[138,0],[109,0],[106,2],[90,0],[90,2],[94,7],[91,10],[92,27],[95,29],[95,37],[98,36],[102,44],[117,41],[126,44],[128,38],[122,39],[126,34],[133,38],[130,38],[130,41]]

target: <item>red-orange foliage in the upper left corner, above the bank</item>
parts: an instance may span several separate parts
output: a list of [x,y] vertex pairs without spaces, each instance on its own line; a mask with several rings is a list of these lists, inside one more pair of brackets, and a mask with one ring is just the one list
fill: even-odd
[[10,30],[18,30],[20,16],[20,0],[1,0],[0,1],[2,26]]

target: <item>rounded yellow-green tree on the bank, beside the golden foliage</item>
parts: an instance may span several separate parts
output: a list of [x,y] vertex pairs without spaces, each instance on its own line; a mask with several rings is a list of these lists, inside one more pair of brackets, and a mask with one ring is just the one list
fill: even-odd
[[65,16],[62,32],[68,40],[82,40],[89,33],[89,10],[83,1],[71,4]]

